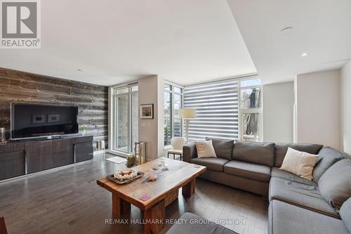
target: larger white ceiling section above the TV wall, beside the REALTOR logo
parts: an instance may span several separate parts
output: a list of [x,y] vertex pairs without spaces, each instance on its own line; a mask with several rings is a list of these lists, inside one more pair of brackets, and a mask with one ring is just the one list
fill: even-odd
[[45,0],[41,8],[41,49],[1,49],[0,67],[102,85],[256,72],[225,0]]

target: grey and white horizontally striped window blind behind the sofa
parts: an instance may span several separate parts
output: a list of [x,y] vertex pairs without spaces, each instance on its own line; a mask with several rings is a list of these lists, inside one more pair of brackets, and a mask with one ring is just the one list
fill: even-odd
[[239,136],[238,80],[185,86],[184,108],[195,108],[196,119],[189,128],[189,141]]

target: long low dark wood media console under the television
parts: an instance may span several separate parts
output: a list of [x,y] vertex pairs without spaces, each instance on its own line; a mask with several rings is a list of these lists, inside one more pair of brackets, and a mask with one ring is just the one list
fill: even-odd
[[11,141],[0,145],[0,180],[92,158],[93,136]]

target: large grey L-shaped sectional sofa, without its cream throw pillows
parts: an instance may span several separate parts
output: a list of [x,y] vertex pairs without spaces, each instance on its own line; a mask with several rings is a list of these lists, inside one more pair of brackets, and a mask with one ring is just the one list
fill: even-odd
[[[351,233],[351,160],[342,153],[317,144],[211,140],[216,158],[198,158],[186,145],[183,160],[206,166],[201,178],[268,197],[268,233]],[[289,147],[319,155],[312,181],[279,169]]]

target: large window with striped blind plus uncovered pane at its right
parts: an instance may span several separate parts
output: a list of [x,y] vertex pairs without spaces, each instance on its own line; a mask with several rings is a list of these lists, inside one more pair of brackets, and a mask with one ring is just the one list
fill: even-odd
[[184,108],[195,108],[189,141],[211,138],[260,141],[260,79],[227,79],[185,86]]

